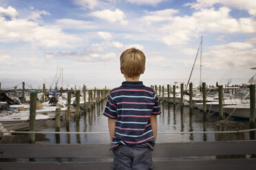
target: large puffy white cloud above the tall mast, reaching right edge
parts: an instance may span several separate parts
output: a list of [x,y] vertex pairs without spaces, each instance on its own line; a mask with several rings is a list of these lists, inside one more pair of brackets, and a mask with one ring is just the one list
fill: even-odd
[[191,38],[196,38],[203,32],[223,33],[254,33],[256,32],[256,21],[253,18],[233,19],[229,12],[231,10],[222,7],[202,9],[194,12],[192,16],[174,16],[169,23],[162,25],[162,42],[171,46],[186,44]]

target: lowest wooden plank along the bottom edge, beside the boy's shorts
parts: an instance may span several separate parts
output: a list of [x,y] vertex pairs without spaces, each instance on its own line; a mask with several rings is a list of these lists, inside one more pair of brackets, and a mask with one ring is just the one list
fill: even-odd
[[[111,162],[0,162],[0,169],[111,169]],[[226,160],[170,160],[168,162],[153,162],[158,170],[252,170],[256,159],[226,159]]]

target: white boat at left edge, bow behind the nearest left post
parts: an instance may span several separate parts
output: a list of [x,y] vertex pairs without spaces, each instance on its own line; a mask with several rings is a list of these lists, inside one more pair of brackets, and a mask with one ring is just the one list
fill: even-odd
[[[0,123],[6,130],[28,130],[30,127],[30,118],[29,112],[19,112],[14,113],[11,111],[1,112],[0,114]],[[50,117],[43,114],[36,114],[36,126],[43,123],[43,121],[50,119]]]

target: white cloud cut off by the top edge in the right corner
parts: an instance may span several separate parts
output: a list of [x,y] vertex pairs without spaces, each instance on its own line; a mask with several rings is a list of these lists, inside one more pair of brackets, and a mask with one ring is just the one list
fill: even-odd
[[197,0],[196,3],[186,3],[186,5],[190,5],[191,8],[200,9],[200,8],[209,8],[215,4],[222,4],[226,6],[230,6],[232,8],[237,8],[239,10],[247,10],[249,14],[256,16],[256,1],[249,0]]

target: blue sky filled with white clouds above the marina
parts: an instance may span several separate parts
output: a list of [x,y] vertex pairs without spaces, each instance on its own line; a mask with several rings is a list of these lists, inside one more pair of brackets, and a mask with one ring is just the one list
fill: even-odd
[[145,53],[146,86],[186,84],[201,36],[202,82],[253,77],[255,0],[0,0],[1,88],[114,88],[130,47]]

